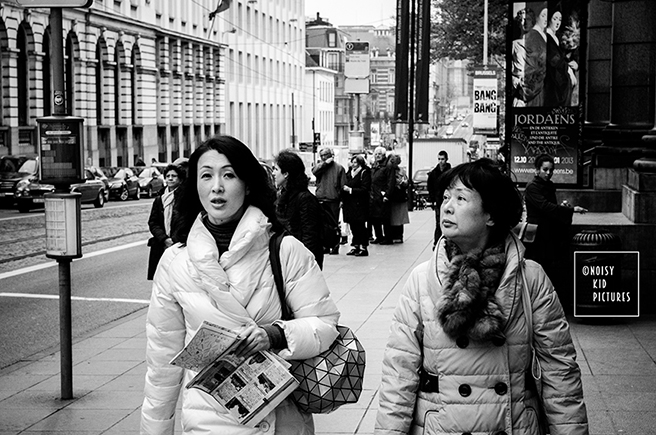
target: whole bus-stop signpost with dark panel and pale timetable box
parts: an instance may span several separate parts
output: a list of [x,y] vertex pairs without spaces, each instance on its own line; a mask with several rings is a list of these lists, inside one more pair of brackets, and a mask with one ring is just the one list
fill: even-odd
[[62,8],[85,8],[93,0],[16,0],[26,8],[50,8],[52,116],[39,123],[39,174],[61,193],[45,196],[46,256],[59,264],[59,338],[61,398],[73,398],[73,339],[71,326],[71,261],[82,257],[80,194],[69,193],[82,180],[82,118],[67,116],[64,92]]

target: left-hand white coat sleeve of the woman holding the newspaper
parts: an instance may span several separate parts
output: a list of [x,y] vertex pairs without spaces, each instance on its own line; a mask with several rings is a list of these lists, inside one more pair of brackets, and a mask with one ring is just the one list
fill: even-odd
[[169,364],[182,350],[185,324],[171,291],[170,265],[178,249],[167,249],[153,281],[146,317],[146,383],[141,407],[141,434],[173,434],[175,408],[184,369]]

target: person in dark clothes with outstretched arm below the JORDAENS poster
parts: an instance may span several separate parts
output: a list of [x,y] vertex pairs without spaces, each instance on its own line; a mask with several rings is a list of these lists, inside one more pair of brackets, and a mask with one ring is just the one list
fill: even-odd
[[[548,154],[535,159],[535,177],[526,185],[524,202],[527,222],[538,225],[535,241],[527,243],[526,258],[540,263],[558,290],[555,260],[567,253],[572,215],[587,210],[566,201],[558,204],[556,186],[551,181],[554,167],[554,159]],[[563,303],[569,302],[567,295],[560,296]]]

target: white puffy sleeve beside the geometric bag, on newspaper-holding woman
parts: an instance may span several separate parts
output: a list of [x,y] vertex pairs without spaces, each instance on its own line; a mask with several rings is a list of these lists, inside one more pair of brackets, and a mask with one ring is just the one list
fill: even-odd
[[292,320],[278,320],[285,332],[285,359],[307,359],[327,350],[337,338],[339,310],[312,253],[294,237],[280,245],[280,263],[286,302]]

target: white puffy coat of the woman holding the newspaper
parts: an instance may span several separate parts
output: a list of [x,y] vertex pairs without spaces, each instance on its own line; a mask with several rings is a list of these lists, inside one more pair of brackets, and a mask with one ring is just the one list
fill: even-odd
[[[145,398],[142,434],[173,434],[180,388],[195,372],[169,364],[204,320],[239,331],[253,322],[279,324],[285,332],[285,359],[305,359],[326,350],[337,337],[339,312],[314,257],[298,240],[285,237],[280,260],[287,303],[294,320],[280,321],[281,310],[269,263],[270,224],[255,207],[239,222],[228,251],[219,258],[216,242],[196,219],[186,246],[167,249],[153,281],[146,334]],[[182,393],[184,434],[312,434],[310,416],[285,400],[255,428],[237,420],[210,395],[196,388]],[[283,427],[281,427],[283,426]]]

